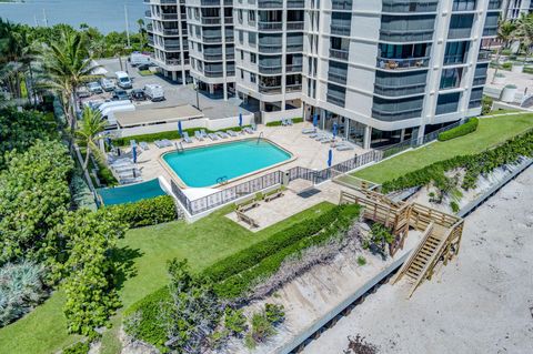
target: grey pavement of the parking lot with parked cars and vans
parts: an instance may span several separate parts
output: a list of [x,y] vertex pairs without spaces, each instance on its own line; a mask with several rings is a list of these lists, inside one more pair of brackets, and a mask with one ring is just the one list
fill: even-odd
[[[108,78],[114,78],[114,73],[120,71],[119,59],[102,59],[98,63],[108,71],[105,74]],[[192,84],[181,85],[173,83],[170,79],[165,79],[160,74],[147,75],[143,77],[139,74],[137,68],[132,68],[127,59],[122,59],[123,71],[127,71],[130,75],[130,79],[133,83],[133,89],[142,89],[145,84],[155,83],[160,84],[164,90],[165,100],[162,102],[151,102],[149,100],[142,102],[134,102],[137,109],[154,109],[154,108],[167,108],[175,107],[182,104],[197,105],[197,92],[193,89]],[[155,68],[152,68],[154,70]],[[131,90],[128,90],[130,92]],[[102,94],[92,94],[90,98],[83,99],[82,101],[91,100],[110,100],[112,92],[104,92]],[[228,117],[237,117],[239,113],[249,114],[250,111],[242,105],[242,101],[237,98],[230,98],[228,101],[223,99],[213,99],[205,95],[203,92],[198,94],[200,110],[207,118],[211,119],[221,119]]]

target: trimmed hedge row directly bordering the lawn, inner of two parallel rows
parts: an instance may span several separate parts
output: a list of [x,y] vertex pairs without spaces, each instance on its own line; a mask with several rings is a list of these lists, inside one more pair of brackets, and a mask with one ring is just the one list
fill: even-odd
[[282,230],[269,239],[245,250],[237,252],[203,271],[203,275],[218,283],[222,280],[254,266],[261,260],[275,252],[320,232],[325,225],[333,223],[343,208],[333,208],[313,220],[306,220]]

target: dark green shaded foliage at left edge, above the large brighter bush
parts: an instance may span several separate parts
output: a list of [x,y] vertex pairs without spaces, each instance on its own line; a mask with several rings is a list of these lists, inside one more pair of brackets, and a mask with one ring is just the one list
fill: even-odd
[[16,108],[0,109],[0,170],[6,168],[6,152],[27,151],[40,140],[57,139],[56,121],[37,111],[19,112]]

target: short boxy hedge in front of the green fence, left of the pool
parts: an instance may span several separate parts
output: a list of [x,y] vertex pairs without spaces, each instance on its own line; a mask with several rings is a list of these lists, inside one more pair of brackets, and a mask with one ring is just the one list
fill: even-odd
[[170,195],[145,199],[135,203],[111,205],[119,220],[130,227],[142,227],[174,221],[178,218],[174,200]]

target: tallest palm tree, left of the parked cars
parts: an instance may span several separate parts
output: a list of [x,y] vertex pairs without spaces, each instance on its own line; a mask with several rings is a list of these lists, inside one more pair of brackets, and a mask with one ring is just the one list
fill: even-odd
[[83,82],[93,78],[100,65],[94,64],[81,33],[62,31],[57,41],[47,45],[42,53],[44,85],[61,94],[64,114],[70,123],[71,145],[76,131],[76,92]]

